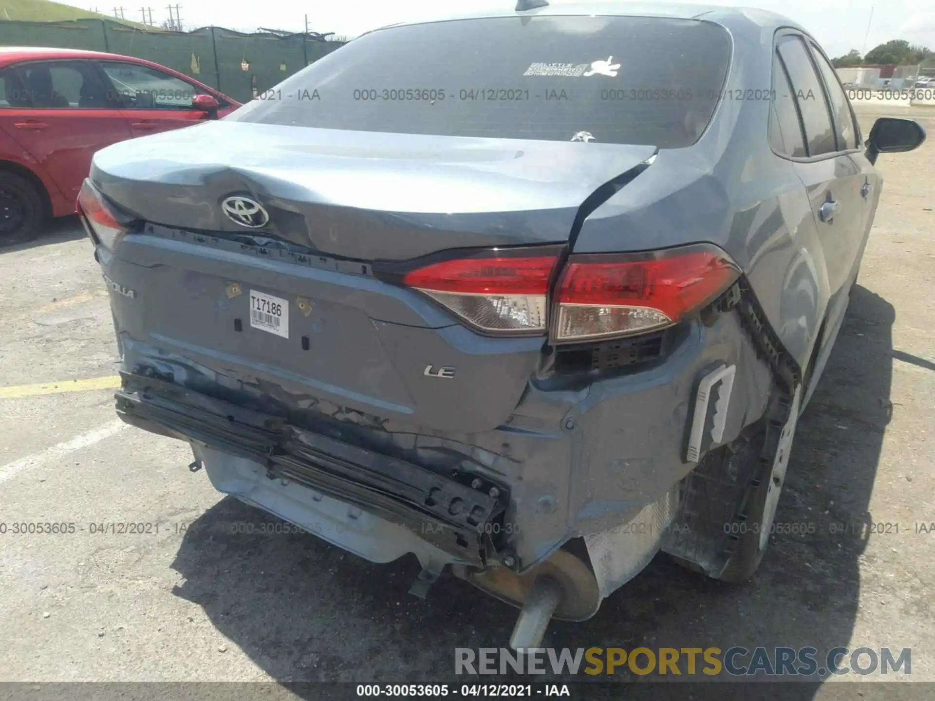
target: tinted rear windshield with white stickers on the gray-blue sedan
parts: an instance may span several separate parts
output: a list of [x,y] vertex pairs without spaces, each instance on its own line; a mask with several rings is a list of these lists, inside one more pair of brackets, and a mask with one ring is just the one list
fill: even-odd
[[706,21],[430,22],[361,36],[228,119],[680,148],[711,120],[729,62],[726,30]]

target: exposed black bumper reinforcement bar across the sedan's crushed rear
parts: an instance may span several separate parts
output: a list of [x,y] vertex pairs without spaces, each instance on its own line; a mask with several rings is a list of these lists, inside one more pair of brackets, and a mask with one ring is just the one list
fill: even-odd
[[122,373],[115,396],[125,422],[263,465],[266,479],[365,509],[418,534],[453,562],[482,567],[494,554],[490,534],[510,498],[503,487],[480,479],[472,480],[475,487],[464,485],[161,379]]

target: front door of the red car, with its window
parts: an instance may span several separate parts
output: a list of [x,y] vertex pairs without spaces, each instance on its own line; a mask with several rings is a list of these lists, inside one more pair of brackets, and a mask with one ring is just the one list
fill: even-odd
[[[146,64],[100,61],[110,91],[120,101],[133,136],[147,136],[190,126],[208,119],[192,106],[195,95],[206,91],[194,83]],[[219,99],[219,102],[223,101]]]

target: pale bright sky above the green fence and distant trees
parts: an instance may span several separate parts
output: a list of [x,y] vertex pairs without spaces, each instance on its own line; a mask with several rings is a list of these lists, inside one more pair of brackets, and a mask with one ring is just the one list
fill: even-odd
[[[187,29],[215,24],[240,31],[255,31],[262,26],[301,32],[308,13],[309,30],[349,37],[396,21],[431,19],[445,12],[515,5],[515,0],[465,0],[463,3],[452,0],[318,0],[305,3],[297,0],[259,3],[255,0],[188,0],[187,4],[185,0],[171,1],[179,2],[181,20]],[[907,39],[912,44],[922,44],[935,50],[935,3],[931,0],[740,0],[737,3],[708,0],[692,4],[742,4],[777,12],[808,29],[832,57],[851,49],[866,52],[889,39]],[[107,5],[95,2],[83,7],[99,7],[98,11],[111,14],[109,7],[105,8]],[[124,7],[124,17],[140,21],[142,15],[139,8]],[[165,6],[152,7],[152,19],[156,24],[168,19]],[[868,23],[870,36],[867,36],[864,48]]]

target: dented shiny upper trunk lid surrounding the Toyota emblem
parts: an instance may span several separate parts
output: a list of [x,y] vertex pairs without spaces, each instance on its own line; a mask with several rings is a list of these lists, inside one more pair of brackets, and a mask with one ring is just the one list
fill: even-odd
[[[98,152],[92,179],[148,222],[360,261],[568,240],[578,207],[652,146],[209,122]],[[262,229],[229,220],[245,194]]]

